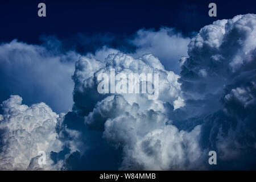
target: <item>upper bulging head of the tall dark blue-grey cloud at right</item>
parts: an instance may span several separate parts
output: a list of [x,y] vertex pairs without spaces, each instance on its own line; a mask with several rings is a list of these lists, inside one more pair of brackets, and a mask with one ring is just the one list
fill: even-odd
[[203,27],[188,45],[180,82],[192,98],[221,93],[255,68],[255,15],[238,15]]

